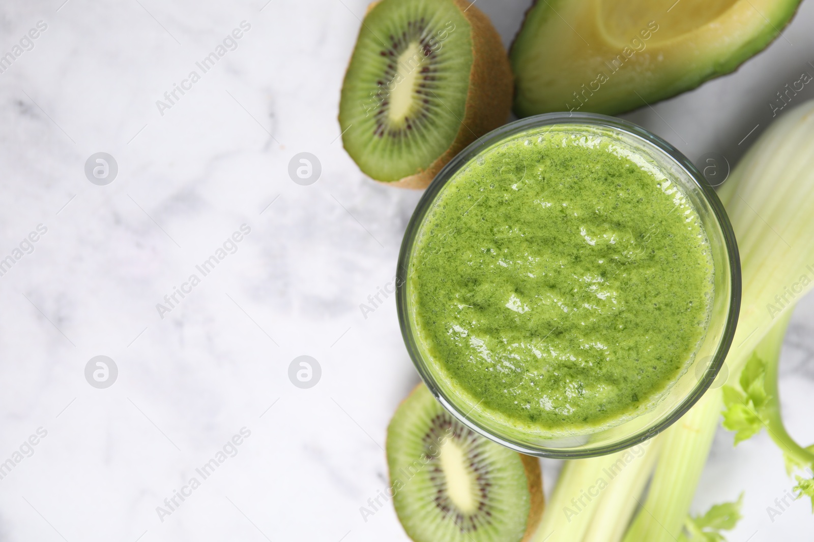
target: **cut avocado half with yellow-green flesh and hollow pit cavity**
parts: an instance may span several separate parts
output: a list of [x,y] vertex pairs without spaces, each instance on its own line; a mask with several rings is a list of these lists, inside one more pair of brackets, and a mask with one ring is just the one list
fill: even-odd
[[617,115],[733,72],[800,0],[537,0],[510,60],[519,117]]

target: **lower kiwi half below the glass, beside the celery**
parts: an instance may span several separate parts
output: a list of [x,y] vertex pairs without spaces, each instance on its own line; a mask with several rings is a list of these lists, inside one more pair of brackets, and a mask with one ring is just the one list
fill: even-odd
[[540,522],[536,457],[496,444],[419,384],[387,427],[393,505],[415,542],[519,542]]

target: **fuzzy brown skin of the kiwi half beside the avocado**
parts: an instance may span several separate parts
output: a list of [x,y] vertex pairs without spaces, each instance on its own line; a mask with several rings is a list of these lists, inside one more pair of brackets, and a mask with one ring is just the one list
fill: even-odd
[[[365,11],[365,17],[381,2],[372,2]],[[469,21],[472,40],[472,67],[461,127],[449,149],[427,169],[400,180],[377,182],[403,189],[426,189],[441,168],[466,145],[499,128],[509,119],[514,98],[514,75],[500,34],[488,16],[467,0],[453,0],[453,3]]]

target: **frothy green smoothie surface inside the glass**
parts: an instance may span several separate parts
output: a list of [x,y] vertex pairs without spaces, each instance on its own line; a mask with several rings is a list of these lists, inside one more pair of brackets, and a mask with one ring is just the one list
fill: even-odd
[[408,306],[438,379],[529,431],[637,414],[693,358],[713,295],[707,234],[672,174],[579,125],[492,146],[435,197]]

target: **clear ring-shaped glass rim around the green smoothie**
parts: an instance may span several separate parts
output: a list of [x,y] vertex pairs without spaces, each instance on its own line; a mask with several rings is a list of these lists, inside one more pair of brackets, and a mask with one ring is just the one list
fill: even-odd
[[[636,431],[631,436],[625,437],[623,440],[611,444],[602,444],[591,446],[586,444],[584,448],[545,448],[536,447],[532,448],[526,444],[520,443],[516,440],[504,438],[503,436],[495,434],[494,431],[486,427],[482,427],[480,423],[470,418],[468,413],[464,413],[445,396],[440,386],[436,384],[435,377],[427,370],[426,363],[422,360],[422,355],[418,349],[418,342],[414,335],[414,330],[410,323],[409,309],[407,302],[407,271],[409,269],[410,255],[413,252],[414,242],[417,234],[421,229],[427,211],[431,208],[431,204],[435,202],[435,198],[440,193],[441,189],[453,179],[454,174],[471,159],[475,158],[479,151],[488,149],[491,145],[509,139],[513,134],[524,132],[532,128],[541,128],[555,124],[583,124],[593,125],[602,128],[611,128],[620,132],[626,132],[634,137],[641,138],[649,141],[659,150],[663,151],[668,158],[671,158],[679,167],[684,169],[689,179],[693,180],[697,185],[699,192],[702,194],[707,205],[710,207],[711,215],[715,218],[716,223],[720,227],[723,234],[723,245],[726,256],[729,259],[729,310],[726,314],[726,321],[721,331],[721,338],[715,350],[714,356],[707,367],[704,375],[698,379],[697,384],[691,389],[683,400],[681,400],[669,413],[663,418],[659,419],[648,427],[644,427]],[[610,117],[607,115],[599,115],[595,113],[546,113],[544,115],[534,115],[524,119],[515,120],[509,124],[505,124],[500,128],[488,132],[478,140],[468,145],[464,150],[458,153],[449,163],[447,163],[435,176],[427,190],[422,194],[415,207],[413,215],[409,219],[405,235],[401,242],[398,263],[396,267],[396,311],[399,318],[399,326],[401,329],[402,338],[405,341],[410,359],[413,361],[418,375],[421,376],[424,384],[430,389],[433,396],[440,401],[446,410],[449,411],[458,421],[470,427],[473,431],[478,432],[480,435],[487,437],[490,440],[502,444],[507,448],[513,449],[519,453],[538,457],[552,457],[558,459],[575,459],[581,457],[596,457],[606,455],[607,453],[614,453],[616,451],[627,449],[635,444],[639,444],[649,440],[653,436],[658,435],[661,431],[667,429],[672,423],[675,423],[681,418],[692,406],[698,402],[707,389],[711,386],[712,382],[716,379],[720,368],[724,365],[729,347],[732,345],[735,328],[737,326],[738,314],[741,306],[741,261],[737,249],[737,241],[733,232],[732,224],[729,222],[729,217],[724,210],[723,204],[720,202],[715,189],[707,182],[695,167],[694,163],[690,162],[680,150],[676,149],[673,145],[663,140],[661,137],[654,135],[641,128],[637,124],[633,124],[624,119]],[[689,367],[688,367],[689,368]],[[474,410],[474,409],[473,409]],[[622,425],[617,427],[624,426]]]

